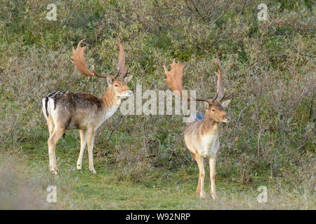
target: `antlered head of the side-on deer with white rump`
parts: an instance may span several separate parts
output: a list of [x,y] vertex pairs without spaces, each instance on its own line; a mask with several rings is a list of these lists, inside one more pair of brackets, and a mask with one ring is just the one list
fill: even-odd
[[[128,73],[133,71],[125,69],[125,55],[123,45],[119,43],[119,62],[117,63],[117,71],[114,76],[109,75],[100,75],[94,70],[94,66],[92,67],[92,72],[88,70],[86,66],[86,60],[84,59],[84,50],[86,50],[86,46],[81,48],[81,43],[84,41],[79,41],[77,45],[77,49],[72,49],[73,53],[73,63],[76,66],[77,70],[80,73],[84,74],[88,77],[98,77],[98,78],[106,78],[108,89],[111,90],[118,97],[129,97],[133,92],[129,90],[127,83],[133,78],[133,76],[125,77]],[[120,76],[119,76],[120,74]]]

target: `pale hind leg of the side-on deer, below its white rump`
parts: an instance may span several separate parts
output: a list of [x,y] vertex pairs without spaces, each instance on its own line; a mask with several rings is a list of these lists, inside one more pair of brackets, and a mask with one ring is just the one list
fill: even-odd
[[55,146],[58,142],[58,140],[62,137],[62,135],[65,133],[65,128],[58,128],[55,126],[53,133],[48,138],[48,154],[49,154],[49,169],[50,172],[53,174],[58,174],[58,167],[57,167],[57,161],[56,161],[56,155],[55,155]]

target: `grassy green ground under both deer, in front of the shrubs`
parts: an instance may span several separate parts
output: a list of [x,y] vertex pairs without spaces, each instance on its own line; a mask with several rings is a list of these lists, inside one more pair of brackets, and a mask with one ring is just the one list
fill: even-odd
[[[98,174],[88,170],[85,153],[83,169],[77,170],[79,143],[68,135],[58,144],[60,174],[48,172],[46,141],[12,146],[11,153],[0,153],[1,209],[314,209],[313,195],[301,193],[259,177],[251,183],[235,181],[218,170],[216,187],[219,200],[201,200],[195,194],[198,169],[192,165],[174,170],[148,170],[137,180],[124,179],[119,167],[96,157]],[[206,176],[209,172],[206,171]],[[209,188],[209,176],[205,188]],[[268,202],[257,200],[258,186],[268,188]],[[46,202],[46,188],[57,187],[57,202]],[[12,188],[13,187],[13,188]],[[285,188],[284,188],[285,187]]]

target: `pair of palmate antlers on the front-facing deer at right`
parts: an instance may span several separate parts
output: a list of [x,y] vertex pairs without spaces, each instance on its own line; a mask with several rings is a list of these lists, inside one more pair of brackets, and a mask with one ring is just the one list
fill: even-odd
[[177,94],[180,95],[180,97],[183,97],[187,100],[195,100],[195,101],[203,101],[208,102],[209,104],[212,104],[216,100],[218,102],[221,102],[223,99],[227,99],[232,95],[232,93],[225,96],[225,88],[223,85],[223,79],[222,79],[222,73],[220,69],[220,62],[217,58],[215,60],[217,66],[218,66],[218,73],[216,72],[216,75],[218,76],[217,80],[217,91],[215,97],[209,97],[209,98],[192,98],[187,97],[183,94],[183,69],[185,68],[186,64],[183,64],[181,62],[176,63],[176,59],[173,60],[173,63],[170,64],[171,71],[169,71],[166,66],[164,65],[164,73],[166,73],[166,79],[164,81],[168,83],[169,87],[171,87],[172,91],[176,91]]

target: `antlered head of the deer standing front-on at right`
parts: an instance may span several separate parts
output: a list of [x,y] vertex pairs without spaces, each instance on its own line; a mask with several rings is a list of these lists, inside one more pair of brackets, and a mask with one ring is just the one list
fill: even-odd
[[183,69],[186,65],[180,62],[176,63],[176,59],[174,59],[173,63],[170,64],[171,71],[168,71],[168,69],[164,65],[164,73],[166,73],[166,79],[164,79],[164,81],[166,81],[166,83],[169,84],[169,87],[171,87],[171,90],[176,91],[176,93],[179,94],[180,97],[183,97],[187,100],[204,102],[206,118],[210,118],[211,120],[214,120],[216,122],[228,123],[230,121],[230,117],[227,116],[227,114],[225,113],[225,107],[228,106],[230,100],[223,102],[223,99],[227,99],[228,97],[230,97],[233,92],[225,95],[225,88],[223,85],[223,78],[218,57],[216,58],[215,62],[218,66],[218,73],[216,72],[216,76],[218,77],[218,79],[215,97],[192,98],[187,97],[185,94],[183,94]]

